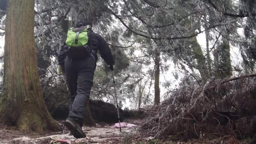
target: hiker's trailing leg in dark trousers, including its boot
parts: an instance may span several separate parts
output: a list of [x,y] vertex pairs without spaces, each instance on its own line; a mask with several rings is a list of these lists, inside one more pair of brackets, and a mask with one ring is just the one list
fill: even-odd
[[[73,62],[76,65],[77,75],[77,91],[72,105],[72,110],[68,114],[68,118],[64,125],[71,131],[76,138],[85,137],[81,126],[83,116],[85,114],[85,103],[89,99],[92,81],[95,71],[95,61],[90,57]],[[80,125],[80,127],[79,127]]]

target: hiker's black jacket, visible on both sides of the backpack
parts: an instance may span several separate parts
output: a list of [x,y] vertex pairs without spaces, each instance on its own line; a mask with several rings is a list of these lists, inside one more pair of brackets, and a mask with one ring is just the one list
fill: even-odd
[[[112,52],[109,48],[109,46],[107,45],[106,41],[103,39],[103,37],[100,36],[100,34],[94,33],[94,31],[92,31],[91,29],[88,30],[88,46],[92,49],[95,50],[95,52],[99,51],[101,58],[104,59],[104,61],[107,63],[107,65],[114,65],[115,64],[115,60],[113,58]],[[66,59],[66,53],[63,50],[63,47],[65,45],[63,45],[60,49],[60,52],[58,53],[58,62],[59,65],[61,65],[61,67],[64,69],[64,62]],[[97,61],[97,54],[93,53],[96,61]]]

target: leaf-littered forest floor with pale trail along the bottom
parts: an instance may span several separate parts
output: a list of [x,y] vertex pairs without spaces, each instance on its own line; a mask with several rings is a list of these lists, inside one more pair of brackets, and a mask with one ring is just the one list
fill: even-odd
[[[121,133],[119,128],[111,128],[114,123],[97,123],[96,127],[83,126],[82,129],[86,134],[86,138],[81,139],[76,139],[72,135],[69,135],[69,131],[62,124],[64,121],[58,121],[63,128],[62,131],[44,132],[41,134],[19,132],[16,130],[16,127],[0,126],[0,144],[222,144],[222,138],[217,140],[219,143],[216,143],[216,141],[206,142],[204,140],[189,140],[186,142],[150,140],[153,137],[141,137],[136,133],[138,126],[144,121],[143,119],[125,120],[125,122],[135,124],[137,127],[122,128]],[[248,144],[246,142],[237,142],[235,140],[234,142],[225,144]]]

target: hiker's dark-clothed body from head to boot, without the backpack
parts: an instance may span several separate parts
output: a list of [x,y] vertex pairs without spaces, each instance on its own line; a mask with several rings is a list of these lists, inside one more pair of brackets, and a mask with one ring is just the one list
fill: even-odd
[[[90,27],[88,25],[86,21],[81,21],[76,25],[76,28]],[[78,34],[76,37],[78,37]],[[65,48],[67,47],[65,45],[62,46],[58,54],[58,62],[64,70],[68,90],[71,94],[69,114],[64,125],[76,138],[85,137],[81,127],[83,125],[85,103],[89,99],[98,60],[97,51],[100,52],[107,65],[110,65],[110,70],[113,71],[113,65],[115,64],[112,52],[103,37],[94,33],[91,28],[88,28],[87,35],[88,43],[86,45],[92,49],[88,56],[83,58],[71,57],[67,55],[70,48],[66,50]]]

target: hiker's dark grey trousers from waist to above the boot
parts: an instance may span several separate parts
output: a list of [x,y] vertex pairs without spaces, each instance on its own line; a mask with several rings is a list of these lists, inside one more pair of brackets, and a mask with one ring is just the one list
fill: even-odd
[[65,60],[66,81],[71,94],[68,117],[78,120],[80,125],[85,114],[85,103],[89,100],[95,67],[96,59],[91,55],[85,59],[67,57]]

